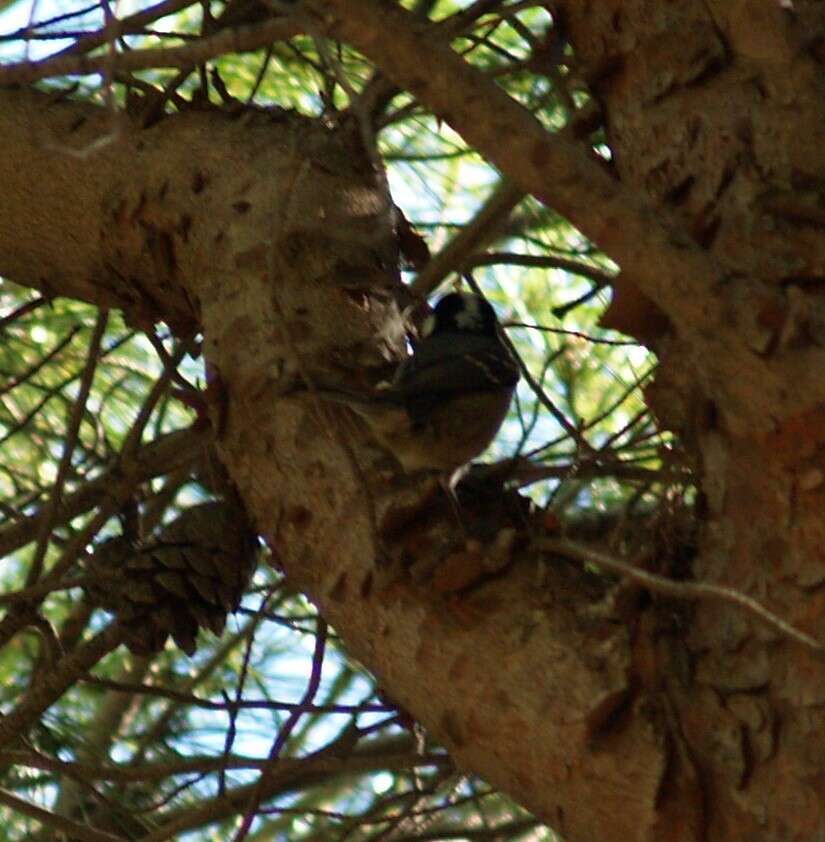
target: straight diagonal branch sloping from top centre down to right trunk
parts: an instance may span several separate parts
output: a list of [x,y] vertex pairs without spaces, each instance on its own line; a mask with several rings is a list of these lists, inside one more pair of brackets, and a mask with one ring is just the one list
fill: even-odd
[[[587,147],[564,132],[550,134],[453,51],[437,27],[381,0],[303,0],[298,8],[311,18],[308,26],[360,50],[516,187],[615,260],[676,326],[687,346],[682,355],[695,354],[702,385],[731,429],[766,431],[777,418],[825,400],[818,348],[766,358],[766,340],[754,335],[758,316],[749,307],[772,300],[773,288],[740,277],[703,249],[668,208],[625,186]],[[788,390],[788,382],[796,388]]]

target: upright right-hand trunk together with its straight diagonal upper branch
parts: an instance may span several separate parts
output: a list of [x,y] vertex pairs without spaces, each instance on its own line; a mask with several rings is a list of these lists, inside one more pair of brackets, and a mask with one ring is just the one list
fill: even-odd
[[[816,629],[825,546],[821,7],[555,4],[605,115],[618,177],[605,190],[557,141],[538,155],[534,121],[498,92],[485,121],[480,75],[403,13],[392,20],[397,37],[380,41],[369,0],[346,15],[336,0],[311,5],[329,31],[590,233],[666,312],[673,327],[657,344],[650,398],[701,456],[707,523],[695,573]],[[422,64],[444,78],[421,78]],[[553,161],[575,177],[566,182]],[[600,227],[608,221],[612,236]],[[800,380],[800,366],[812,377]],[[657,809],[683,807],[683,821],[660,825],[655,838],[822,832],[821,760],[805,749],[822,733],[821,658],[716,606],[697,612],[682,641],[654,651],[635,681],[668,712],[674,762]]]

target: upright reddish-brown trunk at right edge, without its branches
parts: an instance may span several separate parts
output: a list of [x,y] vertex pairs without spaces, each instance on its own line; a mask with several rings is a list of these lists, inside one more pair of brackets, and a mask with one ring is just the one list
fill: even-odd
[[[783,386],[796,395],[788,414],[743,412],[694,376],[694,362],[707,371],[709,348],[686,347],[678,333],[662,342],[654,408],[696,441],[703,466],[695,575],[821,637],[825,414],[791,372],[800,354],[825,371],[825,85],[807,49],[825,25],[821,4],[561,6],[622,182],[675,213],[726,267],[728,299],[740,299],[729,317],[743,335],[758,328],[755,359],[787,365]],[[697,294],[709,280],[696,279]],[[699,412],[685,411],[686,385]],[[753,407],[761,397],[754,391]],[[677,682],[667,661],[657,671],[701,784],[707,838],[825,832],[823,659],[707,604],[682,646],[690,681]]]

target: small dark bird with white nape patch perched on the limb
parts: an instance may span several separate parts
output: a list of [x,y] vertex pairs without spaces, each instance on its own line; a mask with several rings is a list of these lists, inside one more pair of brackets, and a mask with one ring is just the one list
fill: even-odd
[[460,476],[458,469],[498,432],[519,380],[500,331],[481,296],[450,293],[427,317],[413,354],[385,388],[326,396],[354,409],[406,473]]

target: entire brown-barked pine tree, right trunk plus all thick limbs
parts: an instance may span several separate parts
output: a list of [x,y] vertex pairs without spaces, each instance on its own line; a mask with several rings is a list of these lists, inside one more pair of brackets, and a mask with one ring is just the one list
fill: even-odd
[[[794,19],[756,0],[557,3],[612,174],[404,13],[305,5],[665,311],[651,400],[701,457],[694,573],[815,632],[825,91],[803,32],[825,23],[816,4],[797,2]],[[388,694],[571,842],[817,838],[821,658],[717,603],[670,624],[656,608],[611,622],[564,564],[537,589],[527,544],[453,606],[409,573],[449,552],[449,515],[388,479],[350,419],[279,397],[298,375],[364,377],[401,347],[391,214],[357,133],[193,112],[67,154],[107,120],[0,92],[0,181],[22,220],[11,201],[0,211],[0,271],[203,326],[227,466],[288,575]]]

